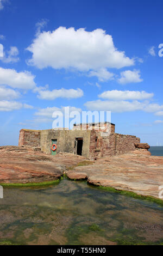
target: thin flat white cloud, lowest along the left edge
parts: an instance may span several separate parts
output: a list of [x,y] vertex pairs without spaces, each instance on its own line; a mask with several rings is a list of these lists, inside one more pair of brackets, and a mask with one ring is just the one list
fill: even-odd
[[[0,101],[0,111],[13,111],[13,110],[18,110],[21,108],[29,108],[30,105],[27,104],[22,104],[17,101],[8,101],[8,100],[2,100]],[[32,108],[32,106],[30,106]]]

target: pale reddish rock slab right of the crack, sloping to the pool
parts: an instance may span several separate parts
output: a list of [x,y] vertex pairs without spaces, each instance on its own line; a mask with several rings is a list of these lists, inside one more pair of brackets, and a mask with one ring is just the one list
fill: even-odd
[[98,159],[95,164],[76,167],[66,173],[71,179],[73,175],[76,179],[83,173],[90,184],[158,198],[159,186],[163,185],[163,157],[137,149],[132,153]]

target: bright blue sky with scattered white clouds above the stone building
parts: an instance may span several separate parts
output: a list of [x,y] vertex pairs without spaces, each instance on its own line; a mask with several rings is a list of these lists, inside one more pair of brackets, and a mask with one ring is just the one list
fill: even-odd
[[0,0],[0,144],[70,106],[163,145],[162,1]]

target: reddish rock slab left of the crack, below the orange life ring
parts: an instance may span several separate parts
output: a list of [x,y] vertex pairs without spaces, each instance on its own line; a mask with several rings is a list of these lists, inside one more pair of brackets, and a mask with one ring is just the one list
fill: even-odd
[[66,166],[76,165],[83,157],[53,157],[39,148],[0,147],[0,183],[28,183],[57,180]]

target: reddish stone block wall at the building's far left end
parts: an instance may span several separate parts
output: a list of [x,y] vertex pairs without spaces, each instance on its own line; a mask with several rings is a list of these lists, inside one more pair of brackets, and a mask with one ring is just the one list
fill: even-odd
[[21,130],[18,140],[19,146],[40,147],[40,131]]

